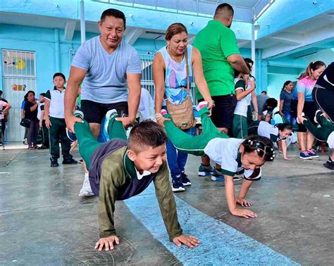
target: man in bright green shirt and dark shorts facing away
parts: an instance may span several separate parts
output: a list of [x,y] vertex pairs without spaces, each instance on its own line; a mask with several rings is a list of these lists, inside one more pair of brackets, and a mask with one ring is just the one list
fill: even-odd
[[[229,4],[220,4],[216,8],[214,20],[209,21],[203,30],[197,33],[194,46],[202,55],[204,77],[209,86],[216,107],[212,110],[211,120],[220,130],[228,133],[233,120],[233,112],[237,105],[234,88],[234,69],[242,73],[242,78],[249,78],[249,69],[237,48],[235,33],[230,30],[233,20],[233,8]],[[196,88],[198,101],[203,101]],[[202,157],[199,175],[209,176],[211,172],[219,175],[210,166],[210,158]]]

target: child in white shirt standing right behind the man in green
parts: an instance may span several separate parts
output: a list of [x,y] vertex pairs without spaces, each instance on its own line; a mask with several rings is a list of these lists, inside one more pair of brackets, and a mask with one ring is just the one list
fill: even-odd
[[[250,66],[247,63],[247,66]],[[245,88],[245,82],[242,80],[240,72],[235,70],[235,96],[237,96],[237,106],[235,106],[233,121],[232,121],[232,135],[237,139],[244,139],[248,135],[247,113],[248,102],[250,102],[251,94],[255,89],[254,79],[249,80],[249,89]],[[252,115],[252,112],[251,112]]]

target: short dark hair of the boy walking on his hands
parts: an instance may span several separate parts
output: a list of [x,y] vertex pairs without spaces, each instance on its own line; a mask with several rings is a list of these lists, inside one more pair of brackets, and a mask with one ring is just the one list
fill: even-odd
[[167,134],[163,127],[152,120],[144,120],[132,127],[128,148],[135,153],[145,151],[147,148],[156,148],[168,141]]

